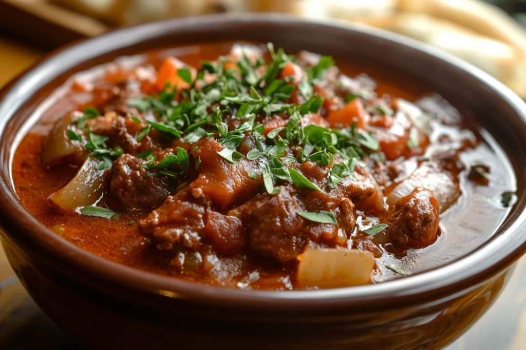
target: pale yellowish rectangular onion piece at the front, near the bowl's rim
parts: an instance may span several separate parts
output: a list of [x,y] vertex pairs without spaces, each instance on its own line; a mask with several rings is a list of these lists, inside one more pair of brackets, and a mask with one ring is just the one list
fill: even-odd
[[301,287],[320,289],[369,284],[375,257],[366,250],[309,249],[298,257]]

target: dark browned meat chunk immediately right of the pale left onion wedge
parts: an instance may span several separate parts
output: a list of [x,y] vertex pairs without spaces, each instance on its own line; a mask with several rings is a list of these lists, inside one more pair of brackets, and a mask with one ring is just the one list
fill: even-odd
[[144,160],[123,154],[113,163],[109,172],[109,195],[116,206],[125,210],[155,209],[170,194],[167,176],[155,174],[145,177]]

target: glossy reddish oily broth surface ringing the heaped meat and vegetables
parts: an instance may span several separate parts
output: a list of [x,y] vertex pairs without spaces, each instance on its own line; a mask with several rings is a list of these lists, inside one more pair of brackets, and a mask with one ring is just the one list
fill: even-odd
[[[108,67],[111,69],[118,66],[129,70],[145,61],[157,66],[160,60],[168,55],[176,56],[189,65],[199,66],[201,60],[213,60],[219,55],[226,54],[230,46],[231,43],[187,46],[123,57],[115,63],[109,63],[103,69],[94,68],[74,78],[89,82],[100,79],[101,73]],[[367,63],[337,62],[337,65],[350,77],[360,73],[369,75],[377,82],[376,91],[379,96],[388,93],[408,101],[415,101],[427,92],[416,82]],[[75,90],[74,78],[68,80],[66,89],[60,90],[65,93],[57,91],[49,97],[54,100],[52,107],[40,116],[37,124],[24,137],[16,150],[13,178],[17,194],[36,219],[78,247],[131,267],[167,274],[165,267],[171,257],[153,251],[148,246],[147,239],[139,234],[137,226],[127,225],[143,218],[146,214],[124,214],[118,221],[112,221],[59,213],[49,205],[48,197],[67,184],[78,168],[68,165],[45,168],[40,161],[45,135],[66,111],[74,108],[82,109],[94,102],[93,94]],[[490,185],[474,186],[467,179],[467,170],[462,171],[460,173],[462,194],[457,203],[441,215],[441,235],[437,242],[428,248],[408,250],[397,256],[384,250],[383,256],[377,260],[379,269],[375,272],[375,281],[400,277],[385,268],[390,264],[414,273],[458,259],[489,239],[508,215],[510,209],[500,205],[500,195],[502,192],[515,190],[515,179],[510,171],[509,161],[489,133],[477,124],[471,129],[481,135],[480,137],[486,142],[481,142],[475,149],[464,152],[461,161],[467,169],[474,163],[489,165]],[[437,137],[444,132],[446,130],[441,128],[434,131]],[[209,263],[214,264],[214,268],[205,279],[184,270],[177,273],[177,277],[227,287],[272,290],[294,288],[294,271],[274,266],[263,259],[246,256],[216,257]]]

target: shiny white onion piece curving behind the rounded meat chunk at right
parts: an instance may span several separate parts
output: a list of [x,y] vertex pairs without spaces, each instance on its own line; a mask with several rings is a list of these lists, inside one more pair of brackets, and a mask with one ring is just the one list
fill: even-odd
[[449,208],[460,195],[460,190],[447,173],[438,172],[429,165],[422,165],[399,183],[387,196],[387,204],[394,205],[417,187],[431,190],[440,205],[440,213]]

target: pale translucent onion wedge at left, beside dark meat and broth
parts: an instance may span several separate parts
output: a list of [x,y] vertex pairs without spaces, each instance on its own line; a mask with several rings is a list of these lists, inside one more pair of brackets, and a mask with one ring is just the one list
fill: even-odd
[[98,163],[88,156],[77,175],[50,197],[53,203],[64,211],[94,204],[102,196],[104,187],[104,170],[97,169]]

